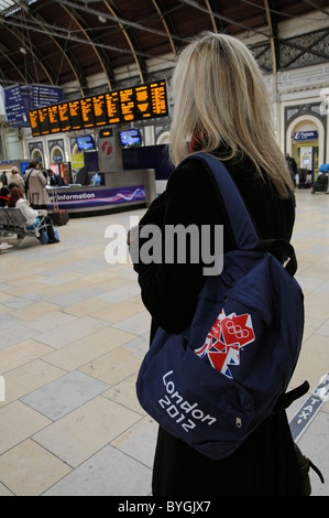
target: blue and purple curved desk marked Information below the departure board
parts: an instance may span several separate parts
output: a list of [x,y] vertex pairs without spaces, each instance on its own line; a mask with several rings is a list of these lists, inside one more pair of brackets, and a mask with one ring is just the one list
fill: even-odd
[[105,173],[106,185],[69,185],[47,187],[48,209],[65,209],[70,216],[149,207],[156,196],[154,170]]

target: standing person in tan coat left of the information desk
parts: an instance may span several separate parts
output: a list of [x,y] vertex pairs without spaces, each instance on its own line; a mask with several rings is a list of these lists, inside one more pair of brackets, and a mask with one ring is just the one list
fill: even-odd
[[31,206],[35,209],[46,211],[51,199],[46,190],[47,181],[42,171],[39,170],[39,163],[32,161],[25,171],[25,191]]

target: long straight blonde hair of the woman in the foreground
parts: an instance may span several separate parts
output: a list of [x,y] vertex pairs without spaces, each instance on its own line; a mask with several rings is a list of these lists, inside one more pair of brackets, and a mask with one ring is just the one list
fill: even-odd
[[194,134],[199,151],[219,158],[249,157],[257,173],[287,196],[292,180],[272,128],[262,73],[248,47],[226,34],[204,32],[180,53],[173,79],[169,154],[177,165]]

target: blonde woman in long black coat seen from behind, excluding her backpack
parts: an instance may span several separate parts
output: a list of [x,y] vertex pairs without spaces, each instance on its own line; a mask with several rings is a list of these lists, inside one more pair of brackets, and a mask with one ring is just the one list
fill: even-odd
[[[224,225],[212,176],[202,161],[193,158],[205,151],[228,169],[262,238],[289,241],[295,219],[293,185],[274,138],[263,77],[249,50],[228,35],[201,34],[183,50],[172,86],[169,152],[176,169],[141,226]],[[180,164],[186,157],[189,160]],[[226,225],[223,248],[234,249]],[[190,323],[205,265],[202,258],[197,263],[188,259],[185,263],[134,261],[143,302],[152,315],[151,347],[157,326],[178,333]],[[160,428],[152,484],[155,496],[278,496],[292,490],[299,494],[298,483],[284,412],[266,419],[221,461],[202,456]]]

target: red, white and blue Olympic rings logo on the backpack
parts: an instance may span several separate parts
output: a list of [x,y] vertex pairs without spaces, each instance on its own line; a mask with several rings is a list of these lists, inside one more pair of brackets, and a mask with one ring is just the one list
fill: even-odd
[[226,315],[222,310],[209,331],[205,344],[195,353],[228,378],[233,378],[229,366],[240,365],[240,349],[255,339],[249,313]]

